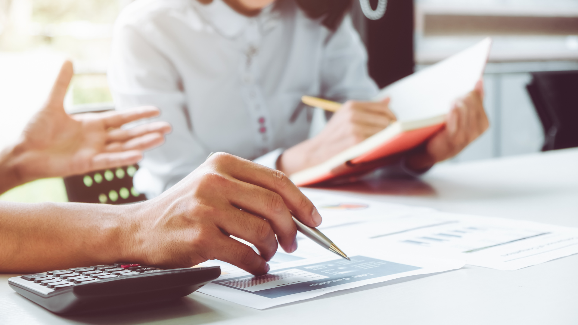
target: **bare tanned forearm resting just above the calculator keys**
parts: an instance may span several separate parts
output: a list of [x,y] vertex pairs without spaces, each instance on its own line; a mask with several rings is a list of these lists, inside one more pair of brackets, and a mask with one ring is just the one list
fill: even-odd
[[134,206],[0,202],[0,272],[129,260]]

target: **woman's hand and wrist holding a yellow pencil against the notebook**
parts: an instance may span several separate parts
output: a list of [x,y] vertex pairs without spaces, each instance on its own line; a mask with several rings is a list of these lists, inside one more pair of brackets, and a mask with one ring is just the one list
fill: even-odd
[[285,150],[277,168],[291,175],[320,164],[383,130],[396,120],[389,102],[389,98],[381,102],[345,102],[320,134]]

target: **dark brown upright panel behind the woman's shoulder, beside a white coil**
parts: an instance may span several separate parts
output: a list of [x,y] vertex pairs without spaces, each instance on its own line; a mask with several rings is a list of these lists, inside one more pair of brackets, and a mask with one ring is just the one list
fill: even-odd
[[[377,7],[377,0],[370,3]],[[381,19],[364,17],[369,75],[380,88],[414,71],[413,17],[413,0],[388,0]]]

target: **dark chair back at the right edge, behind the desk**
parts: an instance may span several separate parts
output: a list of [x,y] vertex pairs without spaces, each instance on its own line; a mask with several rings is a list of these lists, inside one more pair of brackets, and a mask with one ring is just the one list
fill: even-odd
[[531,75],[526,89],[542,121],[542,151],[578,147],[578,71]]

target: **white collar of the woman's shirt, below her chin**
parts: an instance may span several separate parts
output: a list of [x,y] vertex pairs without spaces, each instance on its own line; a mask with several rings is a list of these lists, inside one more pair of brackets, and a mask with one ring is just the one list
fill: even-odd
[[227,38],[234,38],[241,34],[251,20],[257,20],[262,23],[267,22],[269,23],[268,25],[271,25],[271,20],[275,20],[278,16],[278,14],[272,14],[272,12],[277,11],[273,10],[275,2],[263,8],[261,13],[255,17],[247,17],[236,12],[223,0],[213,0],[208,5],[194,1],[194,4],[203,20],[216,29],[219,34]]

